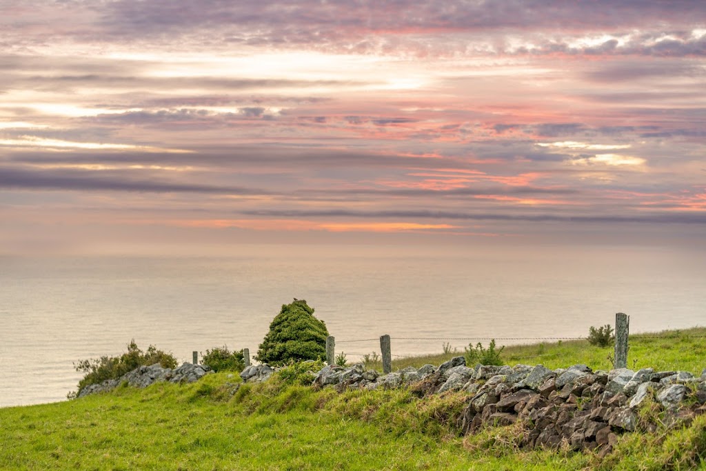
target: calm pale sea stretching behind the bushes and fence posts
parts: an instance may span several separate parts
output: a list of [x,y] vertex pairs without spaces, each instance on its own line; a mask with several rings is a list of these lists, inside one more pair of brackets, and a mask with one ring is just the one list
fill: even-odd
[[[119,354],[132,338],[184,361],[220,345],[254,354],[292,297],[315,306],[337,340],[585,336],[617,311],[630,314],[633,332],[703,326],[704,262],[702,252],[624,248],[0,258],[0,406],[64,400],[80,378],[73,362]],[[441,352],[442,343],[393,340],[393,354]],[[378,346],[337,351],[353,359]]]

